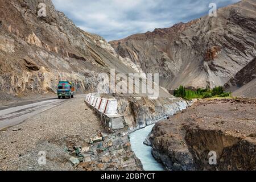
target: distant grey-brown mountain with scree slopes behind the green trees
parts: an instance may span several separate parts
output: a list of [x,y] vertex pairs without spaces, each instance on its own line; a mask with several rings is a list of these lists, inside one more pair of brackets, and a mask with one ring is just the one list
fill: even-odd
[[256,55],[256,1],[244,0],[170,28],[110,42],[146,73],[160,73],[161,86],[224,85]]

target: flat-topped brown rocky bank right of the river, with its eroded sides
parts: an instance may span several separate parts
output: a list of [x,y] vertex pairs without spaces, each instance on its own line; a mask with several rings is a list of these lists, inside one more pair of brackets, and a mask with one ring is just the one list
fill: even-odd
[[[255,100],[199,101],[156,123],[152,154],[171,170],[255,170],[255,109]],[[216,165],[209,163],[210,151]]]

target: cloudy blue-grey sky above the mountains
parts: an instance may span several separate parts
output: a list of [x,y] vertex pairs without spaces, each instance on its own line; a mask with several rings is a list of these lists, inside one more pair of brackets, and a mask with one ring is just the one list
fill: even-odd
[[129,35],[171,27],[208,14],[239,0],[52,0],[82,30],[117,40]]

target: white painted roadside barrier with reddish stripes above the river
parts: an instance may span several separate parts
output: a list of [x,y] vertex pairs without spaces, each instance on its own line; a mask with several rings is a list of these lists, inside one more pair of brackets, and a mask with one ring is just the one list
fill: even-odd
[[108,115],[118,114],[117,100],[101,98],[97,93],[90,93],[86,95],[85,101],[101,113]]

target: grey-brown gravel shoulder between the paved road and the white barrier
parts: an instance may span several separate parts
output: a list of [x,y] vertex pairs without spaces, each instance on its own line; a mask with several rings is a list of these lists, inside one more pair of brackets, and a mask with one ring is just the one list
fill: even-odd
[[[73,170],[67,148],[86,144],[103,130],[84,97],[67,100],[0,131],[0,169]],[[38,164],[39,151],[46,152],[46,165]]]

